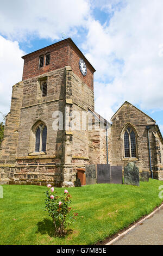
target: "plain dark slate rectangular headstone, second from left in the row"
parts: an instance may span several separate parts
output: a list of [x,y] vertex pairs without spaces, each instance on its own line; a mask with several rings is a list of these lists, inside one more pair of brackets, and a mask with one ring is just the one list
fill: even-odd
[[110,164],[97,164],[97,183],[110,183]]

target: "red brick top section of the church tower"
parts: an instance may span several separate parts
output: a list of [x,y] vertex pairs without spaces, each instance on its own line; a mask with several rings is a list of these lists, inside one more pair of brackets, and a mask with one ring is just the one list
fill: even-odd
[[[46,55],[49,54],[49,62],[46,65]],[[43,66],[39,67],[40,57],[42,57]],[[41,48],[35,52],[29,53],[22,57],[24,59],[23,78],[36,77],[54,71],[64,66],[71,66],[72,71],[76,74],[84,83],[93,90],[93,72],[96,70],[85,58],[83,53],[74,44],[71,38],[56,42],[55,44]],[[79,70],[79,60],[82,58],[87,66],[87,75],[83,76]]]

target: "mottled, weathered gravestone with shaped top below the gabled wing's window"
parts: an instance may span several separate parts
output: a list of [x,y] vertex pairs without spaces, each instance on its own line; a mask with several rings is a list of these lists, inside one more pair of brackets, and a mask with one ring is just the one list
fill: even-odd
[[134,162],[129,162],[124,167],[124,184],[139,186],[139,168]]

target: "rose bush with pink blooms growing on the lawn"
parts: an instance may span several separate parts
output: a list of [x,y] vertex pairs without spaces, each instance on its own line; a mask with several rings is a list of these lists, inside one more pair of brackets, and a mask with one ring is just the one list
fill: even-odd
[[77,213],[71,214],[69,207],[71,200],[70,194],[67,190],[57,196],[54,187],[51,184],[47,185],[48,190],[46,193],[45,210],[48,211],[49,216],[53,219],[55,234],[62,236],[67,233],[67,227],[72,221],[76,220]]

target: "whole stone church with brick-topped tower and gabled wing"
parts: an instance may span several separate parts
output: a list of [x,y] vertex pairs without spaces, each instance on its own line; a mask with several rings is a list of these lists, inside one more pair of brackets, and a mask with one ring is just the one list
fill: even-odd
[[110,121],[95,112],[95,69],[68,38],[29,53],[12,87],[0,148],[0,184],[67,186],[85,165],[133,161],[163,180],[163,139],[147,114],[124,102]]

